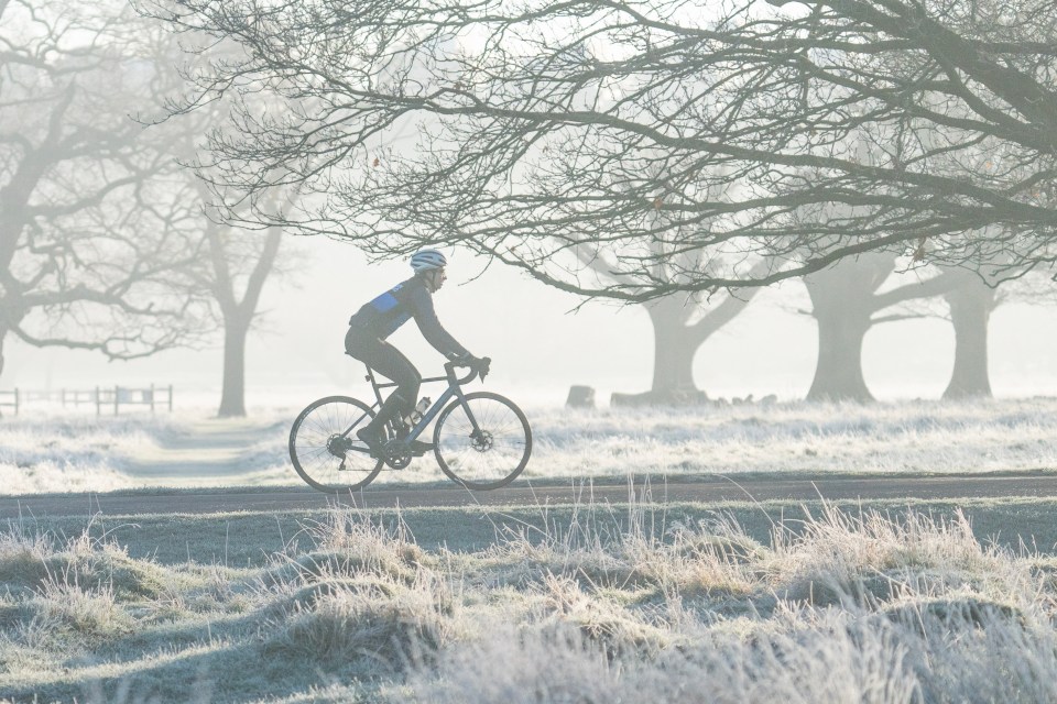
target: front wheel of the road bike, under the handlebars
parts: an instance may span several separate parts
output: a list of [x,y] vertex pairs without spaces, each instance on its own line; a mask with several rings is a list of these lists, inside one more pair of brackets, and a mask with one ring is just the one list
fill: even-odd
[[440,470],[462,486],[506,486],[532,454],[528,419],[508,398],[490,392],[466,394],[440,411],[433,431]]

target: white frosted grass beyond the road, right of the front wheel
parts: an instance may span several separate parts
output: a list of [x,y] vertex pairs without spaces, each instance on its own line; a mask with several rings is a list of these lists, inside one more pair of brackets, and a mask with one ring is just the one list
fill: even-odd
[[1057,465],[1055,411],[1054,398],[598,410],[538,424],[534,459],[587,476],[1044,469]]

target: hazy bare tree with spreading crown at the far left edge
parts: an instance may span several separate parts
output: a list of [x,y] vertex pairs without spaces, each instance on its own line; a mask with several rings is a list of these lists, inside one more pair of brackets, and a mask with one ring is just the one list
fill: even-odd
[[112,10],[0,3],[0,345],[131,359],[205,332],[197,213],[129,116],[163,88],[155,47]]

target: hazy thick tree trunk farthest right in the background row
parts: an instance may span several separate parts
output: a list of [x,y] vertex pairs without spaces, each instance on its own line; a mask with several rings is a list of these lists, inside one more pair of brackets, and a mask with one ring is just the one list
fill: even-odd
[[990,398],[988,321],[995,307],[995,292],[973,279],[946,298],[955,327],[955,369],[944,398]]

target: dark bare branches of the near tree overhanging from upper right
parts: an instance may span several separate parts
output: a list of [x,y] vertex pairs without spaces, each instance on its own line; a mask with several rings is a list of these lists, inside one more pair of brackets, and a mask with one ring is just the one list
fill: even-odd
[[[242,106],[240,135],[211,144],[242,197],[283,166],[322,198],[254,220],[379,255],[465,244],[640,301],[923,242],[993,278],[1057,256],[1051,0],[772,2],[183,0],[159,14],[243,48],[197,75],[199,102],[252,87],[286,106]],[[415,148],[380,146],[410,124]],[[716,199],[717,179],[745,187]],[[853,208],[804,228],[804,209],[833,205]],[[619,242],[622,276],[585,278],[567,256],[582,242]],[[743,261],[657,279],[655,242]],[[760,260],[773,268],[754,273]]]

